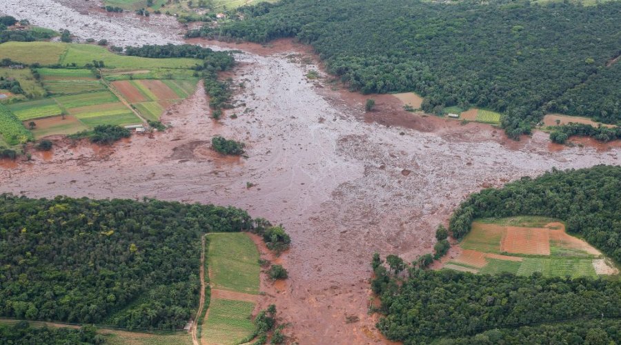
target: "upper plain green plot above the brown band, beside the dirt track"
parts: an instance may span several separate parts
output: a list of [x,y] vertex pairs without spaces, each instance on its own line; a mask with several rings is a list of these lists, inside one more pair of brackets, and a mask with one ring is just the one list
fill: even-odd
[[244,233],[210,234],[208,265],[212,288],[259,293],[259,252]]

